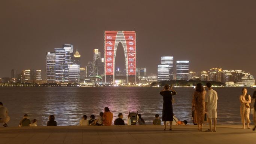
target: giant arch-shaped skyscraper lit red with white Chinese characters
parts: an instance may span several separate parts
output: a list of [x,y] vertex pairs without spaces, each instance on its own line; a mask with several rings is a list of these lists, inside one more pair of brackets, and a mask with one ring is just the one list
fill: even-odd
[[136,84],[135,31],[105,31],[105,82],[115,83],[116,49],[119,43],[121,43],[124,48],[126,84]]

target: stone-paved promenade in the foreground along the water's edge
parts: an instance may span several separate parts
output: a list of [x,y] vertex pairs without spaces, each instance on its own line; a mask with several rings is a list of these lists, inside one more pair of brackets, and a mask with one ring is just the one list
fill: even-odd
[[[38,126],[0,128],[0,144],[256,144],[256,132],[241,125],[219,125],[217,132],[197,126]],[[204,127],[206,130],[208,126]]]

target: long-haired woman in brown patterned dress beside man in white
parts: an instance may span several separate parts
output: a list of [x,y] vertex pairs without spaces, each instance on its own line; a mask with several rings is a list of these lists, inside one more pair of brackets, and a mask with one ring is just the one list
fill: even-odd
[[197,123],[198,125],[198,131],[202,131],[202,126],[204,123],[204,113],[205,113],[205,98],[206,91],[201,83],[198,83],[196,85],[196,90],[193,94],[193,100],[192,100],[192,111],[194,111],[194,123]]

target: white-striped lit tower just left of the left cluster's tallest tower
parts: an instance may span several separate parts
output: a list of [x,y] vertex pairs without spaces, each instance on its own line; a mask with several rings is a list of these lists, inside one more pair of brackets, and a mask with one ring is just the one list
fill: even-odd
[[[55,50],[55,80],[56,82],[65,82],[65,68],[66,68],[66,60],[65,60],[65,49],[57,48]],[[72,55],[73,57],[73,55]],[[73,60],[72,60],[73,62]]]

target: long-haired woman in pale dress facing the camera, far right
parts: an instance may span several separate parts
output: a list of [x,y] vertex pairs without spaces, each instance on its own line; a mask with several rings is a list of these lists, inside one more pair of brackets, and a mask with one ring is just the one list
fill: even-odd
[[251,96],[247,94],[247,89],[242,89],[242,95],[240,95],[240,114],[241,114],[241,121],[243,123],[243,129],[245,129],[245,120],[247,123],[247,128],[250,129],[250,103],[251,103]]

